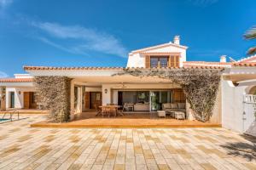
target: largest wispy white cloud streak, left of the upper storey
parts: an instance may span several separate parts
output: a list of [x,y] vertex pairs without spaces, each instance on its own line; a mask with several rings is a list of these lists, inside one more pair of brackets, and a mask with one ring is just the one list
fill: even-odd
[[127,55],[127,50],[116,37],[95,29],[82,26],[61,26],[60,24],[50,22],[34,22],[32,26],[38,27],[51,37],[76,40],[76,45],[65,47],[64,45],[49,41],[49,39],[41,38],[43,42],[71,53],[87,54],[88,51],[95,51],[120,57],[126,57]]

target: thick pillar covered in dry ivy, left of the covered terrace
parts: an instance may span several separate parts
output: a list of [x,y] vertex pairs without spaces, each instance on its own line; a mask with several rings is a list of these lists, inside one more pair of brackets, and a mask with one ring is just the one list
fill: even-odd
[[34,77],[37,103],[49,111],[49,122],[69,120],[71,80],[68,77]]

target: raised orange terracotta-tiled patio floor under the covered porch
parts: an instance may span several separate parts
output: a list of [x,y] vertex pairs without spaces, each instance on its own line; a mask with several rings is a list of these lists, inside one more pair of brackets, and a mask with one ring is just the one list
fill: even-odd
[[96,116],[95,111],[76,115],[65,123],[36,122],[32,127],[221,127],[218,123],[177,120],[171,116],[159,117],[156,112],[124,112],[124,116]]

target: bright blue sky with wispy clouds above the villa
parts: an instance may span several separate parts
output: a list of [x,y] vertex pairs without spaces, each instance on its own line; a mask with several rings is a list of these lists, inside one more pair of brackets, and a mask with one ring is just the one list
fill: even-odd
[[244,57],[255,0],[0,0],[0,77],[23,65],[125,66],[129,51],[172,41],[187,60]]

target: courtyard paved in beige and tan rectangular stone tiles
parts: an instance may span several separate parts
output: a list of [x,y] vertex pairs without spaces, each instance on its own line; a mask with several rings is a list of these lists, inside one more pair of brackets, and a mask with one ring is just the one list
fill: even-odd
[[32,128],[0,124],[1,169],[256,169],[255,139],[224,128]]

